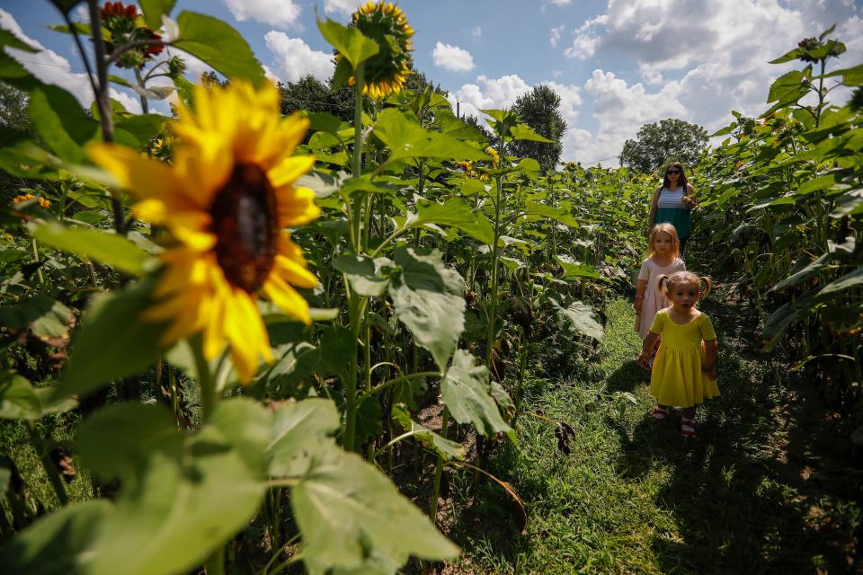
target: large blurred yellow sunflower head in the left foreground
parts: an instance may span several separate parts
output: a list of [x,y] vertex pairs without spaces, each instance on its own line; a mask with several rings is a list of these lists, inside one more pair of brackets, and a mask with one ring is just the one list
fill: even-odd
[[169,322],[166,346],[202,332],[207,358],[227,340],[245,384],[260,358],[272,360],[259,292],[311,323],[306,300],[291,286],[314,288],[317,279],[284,228],[307,224],[320,211],[312,190],[292,185],[315,158],[291,155],[308,120],[281,119],[272,84],[257,92],[243,82],[196,86],[194,102],[194,111],[179,107],[170,166],[128,147],[92,144],[87,151],[139,200],[133,213],[165,226],[175,240],[160,256],[157,301],[144,319]]

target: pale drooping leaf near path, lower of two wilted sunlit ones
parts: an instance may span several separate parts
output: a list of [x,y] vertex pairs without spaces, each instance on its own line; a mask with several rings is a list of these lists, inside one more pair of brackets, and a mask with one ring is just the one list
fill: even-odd
[[486,438],[503,431],[515,441],[515,431],[506,424],[488,384],[488,367],[477,366],[476,358],[458,349],[452,365],[440,381],[440,392],[453,419],[472,423]]

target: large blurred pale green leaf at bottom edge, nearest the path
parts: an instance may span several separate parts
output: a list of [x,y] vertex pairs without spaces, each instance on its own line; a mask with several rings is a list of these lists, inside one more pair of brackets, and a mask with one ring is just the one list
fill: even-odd
[[451,559],[458,547],[360,456],[330,447],[293,489],[311,575],[393,573],[414,555]]

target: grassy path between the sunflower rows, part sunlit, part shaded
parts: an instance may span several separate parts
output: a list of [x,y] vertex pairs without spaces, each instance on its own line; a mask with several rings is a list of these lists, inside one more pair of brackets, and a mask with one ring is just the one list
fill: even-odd
[[473,498],[467,478],[454,478],[458,520],[449,536],[465,553],[445,572],[853,570],[847,545],[859,505],[827,491],[807,495],[811,485],[787,456],[796,433],[794,413],[779,416],[794,397],[787,367],[747,357],[734,316],[706,302],[720,340],[722,396],[699,410],[698,438],[681,438],[679,412],[664,423],[647,415],[653,398],[633,361],[640,340],[629,306],[608,306],[598,362],[529,382],[526,411],[568,422],[570,454],[538,417],[520,420],[517,447],[495,452],[491,472],[526,503],[523,533],[494,483]]

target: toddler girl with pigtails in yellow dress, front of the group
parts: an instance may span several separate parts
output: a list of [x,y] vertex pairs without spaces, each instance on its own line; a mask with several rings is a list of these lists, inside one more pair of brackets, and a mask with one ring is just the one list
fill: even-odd
[[[704,281],[704,291],[701,281]],[[650,352],[662,335],[650,374],[650,393],[656,398],[651,411],[655,420],[668,417],[671,405],[683,408],[681,435],[694,437],[698,432],[695,411],[704,398],[719,395],[716,386],[716,332],[696,303],[710,293],[710,279],[698,278],[689,271],[660,276],[659,287],[672,302],[658,312],[645,337],[636,360],[648,368]]]

